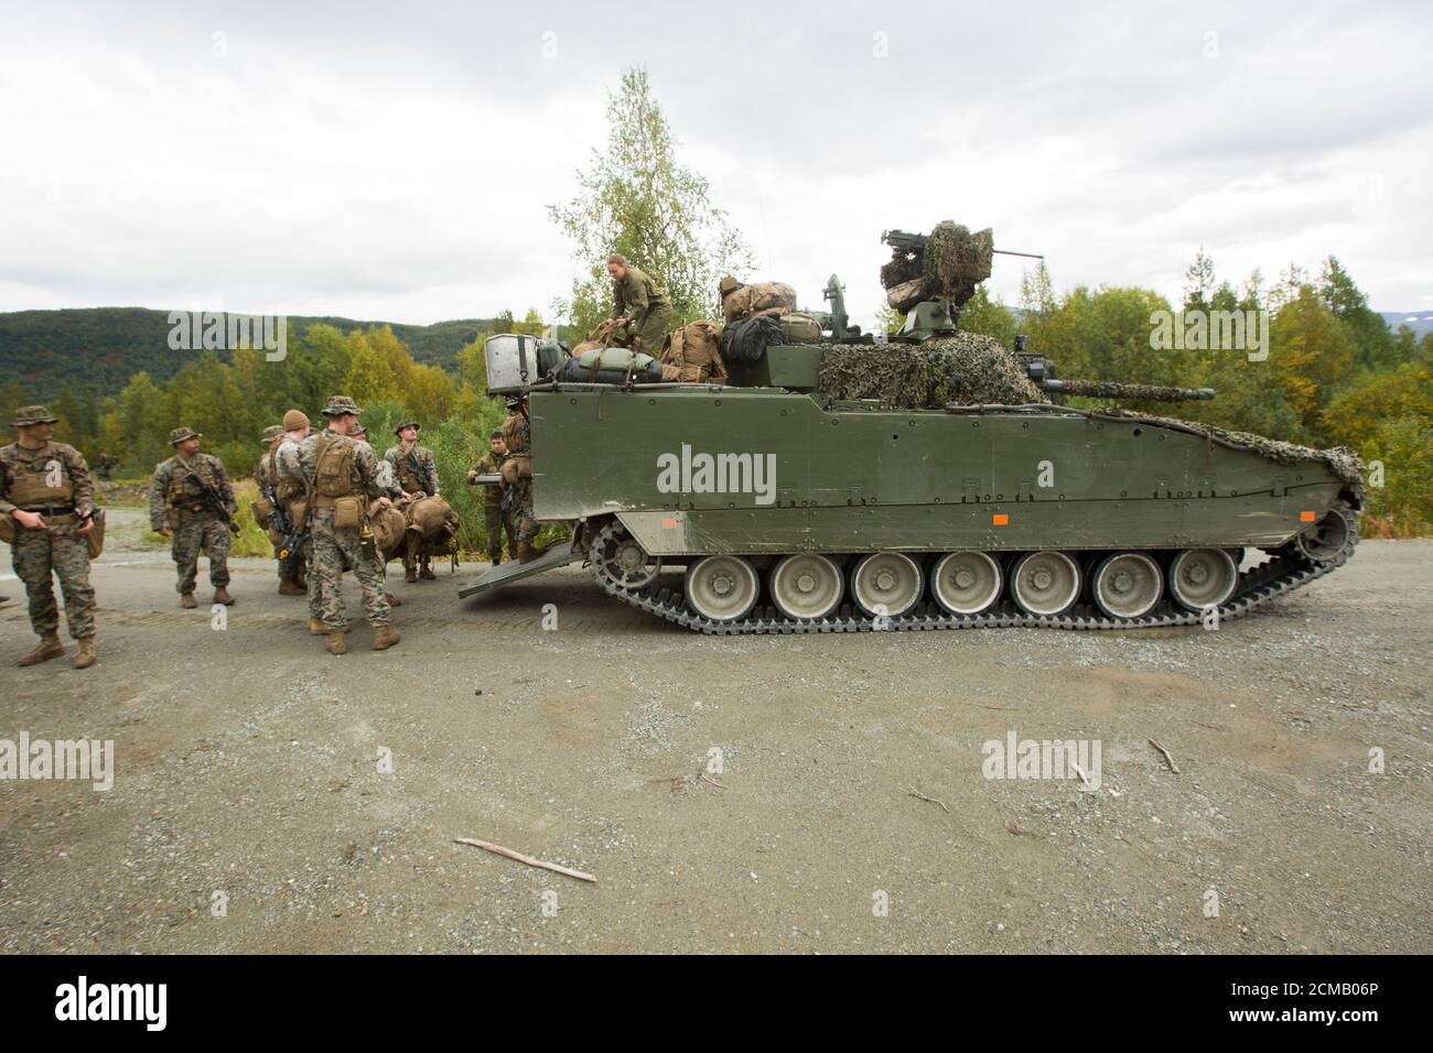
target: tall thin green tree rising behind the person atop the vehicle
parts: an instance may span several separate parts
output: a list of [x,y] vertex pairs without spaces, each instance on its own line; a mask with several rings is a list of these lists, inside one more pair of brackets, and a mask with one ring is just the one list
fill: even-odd
[[608,97],[608,142],[577,170],[577,193],[549,213],[580,268],[570,298],[557,305],[577,332],[612,311],[612,252],[666,288],[676,324],[719,318],[716,282],[752,266],[751,249],[712,203],[706,179],[678,163],[676,140],[641,67],[628,69]]

